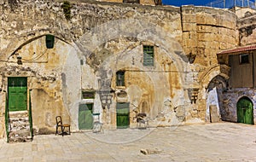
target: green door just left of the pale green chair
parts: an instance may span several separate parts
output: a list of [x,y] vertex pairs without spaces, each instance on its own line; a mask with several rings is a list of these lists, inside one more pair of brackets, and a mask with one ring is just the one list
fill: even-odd
[[93,104],[80,104],[79,105],[79,130],[91,130],[93,117],[92,117]]

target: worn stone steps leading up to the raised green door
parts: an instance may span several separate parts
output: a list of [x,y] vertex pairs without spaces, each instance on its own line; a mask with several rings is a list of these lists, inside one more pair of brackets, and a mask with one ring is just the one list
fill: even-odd
[[31,142],[27,111],[9,112],[9,142]]

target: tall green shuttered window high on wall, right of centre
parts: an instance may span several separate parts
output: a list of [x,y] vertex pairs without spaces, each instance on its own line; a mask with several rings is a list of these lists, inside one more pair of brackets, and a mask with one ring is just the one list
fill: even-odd
[[143,66],[154,67],[154,46],[143,45]]

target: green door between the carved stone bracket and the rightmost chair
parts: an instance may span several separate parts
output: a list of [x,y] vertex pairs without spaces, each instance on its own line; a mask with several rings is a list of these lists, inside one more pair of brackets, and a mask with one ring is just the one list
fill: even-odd
[[117,128],[128,128],[130,125],[129,103],[117,103],[116,106]]

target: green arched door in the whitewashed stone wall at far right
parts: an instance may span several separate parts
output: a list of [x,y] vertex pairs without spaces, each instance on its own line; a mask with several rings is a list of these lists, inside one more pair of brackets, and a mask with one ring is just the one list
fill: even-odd
[[246,96],[241,97],[236,104],[237,123],[254,124],[253,122],[253,102]]

